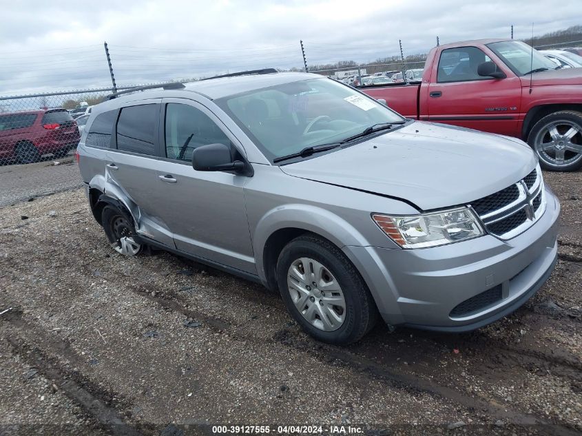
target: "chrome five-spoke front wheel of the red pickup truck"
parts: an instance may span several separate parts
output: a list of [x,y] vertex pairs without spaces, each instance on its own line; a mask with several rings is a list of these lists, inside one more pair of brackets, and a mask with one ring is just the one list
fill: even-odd
[[534,149],[552,167],[565,167],[582,160],[582,126],[573,121],[554,121],[534,138]]

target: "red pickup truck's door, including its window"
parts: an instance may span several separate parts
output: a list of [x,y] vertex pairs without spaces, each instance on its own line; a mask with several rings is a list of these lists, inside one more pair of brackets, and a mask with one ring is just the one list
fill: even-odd
[[[493,57],[477,47],[443,50],[428,86],[428,120],[515,136],[521,81]],[[494,61],[506,79],[479,76],[485,61]]]

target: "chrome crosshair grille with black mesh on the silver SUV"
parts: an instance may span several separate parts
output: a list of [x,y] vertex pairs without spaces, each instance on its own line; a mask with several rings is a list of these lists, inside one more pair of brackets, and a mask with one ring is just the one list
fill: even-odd
[[528,229],[545,211],[543,178],[539,165],[514,185],[479,198],[471,207],[486,230],[501,239],[510,239]]

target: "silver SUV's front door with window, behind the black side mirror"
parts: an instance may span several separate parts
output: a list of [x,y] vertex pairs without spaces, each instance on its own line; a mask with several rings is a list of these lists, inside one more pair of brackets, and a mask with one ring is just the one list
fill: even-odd
[[160,217],[174,233],[176,248],[194,256],[256,273],[243,186],[246,176],[198,172],[191,164],[200,145],[240,143],[204,105],[163,99],[160,143],[166,157],[157,172]]

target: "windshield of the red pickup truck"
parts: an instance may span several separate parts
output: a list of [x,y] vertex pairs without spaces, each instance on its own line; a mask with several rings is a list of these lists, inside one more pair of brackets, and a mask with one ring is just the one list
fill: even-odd
[[[543,56],[530,45],[521,41],[503,41],[487,44],[497,56],[518,76],[524,76],[534,70],[555,70],[556,64]],[[533,50],[533,55],[532,55]]]

